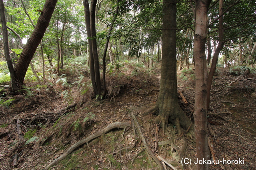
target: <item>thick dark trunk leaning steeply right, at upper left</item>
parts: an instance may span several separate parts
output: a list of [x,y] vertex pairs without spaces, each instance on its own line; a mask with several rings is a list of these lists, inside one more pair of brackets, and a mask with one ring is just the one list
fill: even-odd
[[24,82],[24,78],[28,70],[30,61],[32,60],[34,53],[36,52],[36,49],[44,36],[46,28],[49,25],[56,3],[57,0],[46,0],[42,13],[38,18],[36,27],[30,39],[28,39],[28,42],[24,47],[22,53],[20,54],[20,58],[18,59],[18,63],[16,64],[16,67],[14,69],[16,74],[16,80],[20,84],[23,84]]

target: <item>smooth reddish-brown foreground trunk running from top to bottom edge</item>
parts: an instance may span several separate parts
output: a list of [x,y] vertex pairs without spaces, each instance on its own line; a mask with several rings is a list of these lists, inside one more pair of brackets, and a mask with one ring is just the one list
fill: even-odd
[[[196,136],[196,156],[198,160],[208,160],[210,152],[207,140],[207,67],[206,67],[206,31],[207,31],[207,11],[211,0],[196,0],[196,24],[194,35],[194,61],[196,73],[195,90],[195,136]],[[209,164],[197,164],[198,170],[208,170]]]

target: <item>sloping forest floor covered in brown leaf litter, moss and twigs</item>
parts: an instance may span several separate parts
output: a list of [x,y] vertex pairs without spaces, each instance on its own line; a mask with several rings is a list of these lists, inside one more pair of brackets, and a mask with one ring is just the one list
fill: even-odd
[[[211,158],[216,161],[226,160],[228,164],[210,164],[211,170],[256,169],[256,75],[235,73],[238,72],[217,68],[214,76],[208,112]],[[114,84],[124,77],[126,79],[119,82],[121,84]],[[177,77],[178,90],[188,101],[185,104],[179,94],[180,106],[193,121],[194,70],[182,70]],[[89,97],[81,98],[80,94],[84,93],[77,90],[79,84],[76,88],[61,83],[45,86],[30,84],[31,87],[37,87],[29,89],[33,95],[16,96],[17,100],[10,106],[0,108],[0,169],[41,170],[81,139],[102,131],[114,122],[131,122],[131,106],[150,107],[156,102],[159,69],[156,72],[138,70],[134,76],[123,73],[115,78],[108,78],[108,83],[115,89],[112,97],[101,101],[90,99],[91,94],[86,93],[88,90],[84,93]],[[78,77],[71,75],[66,83],[73,84],[77,80]],[[73,103],[76,107],[65,109]],[[170,143],[159,143],[169,138],[161,128],[158,131],[158,125],[154,122],[156,115],[143,117],[139,111],[133,113],[155,155],[162,156],[178,170],[195,169],[195,143],[189,134],[180,138],[176,127],[169,125],[174,145],[178,149],[184,148],[186,141],[183,158],[189,158],[192,164],[182,166],[177,149]],[[234,162],[229,164],[232,160]],[[154,167],[157,165],[146,152],[143,141],[137,135],[134,136],[132,128],[127,127],[112,130],[81,145],[50,169],[157,169]],[[166,166],[166,169],[171,168]]]

